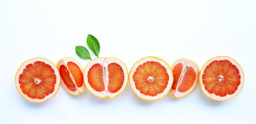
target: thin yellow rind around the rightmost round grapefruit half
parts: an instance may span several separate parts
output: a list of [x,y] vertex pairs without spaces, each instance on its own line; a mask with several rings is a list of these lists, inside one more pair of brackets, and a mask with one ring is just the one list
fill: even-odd
[[[218,57],[228,57],[228,58],[231,58],[231,57],[229,57],[229,56],[216,56],[216,57],[211,58],[211,59],[208,60],[207,62],[213,60],[214,58],[218,58]],[[233,60],[234,62],[236,62],[233,58],[231,58],[231,60]],[[206,64],[207,62],[205,62],[204,65],[202,66],[202,68],[201,68],[201,70],[200,70],[200,72],[199,72],[199,78],[201,77],[202,69],[203,69],[203,67],[205,66],[205,64]],[[241,65],[240,65],[238,62],[236,62],[236,63],[241,67]],[[241,67],[241,70],[242,70],[242,73],[243,73],[243,75],[244,75],[244,71],[243,71],[242,67]],[[244,76],[244,80],[245,80],[245,76]],[[201,89],[202,92],[204,93],[204,91],[203,91],[203,89],[202,89],[202,84],[201,84],[202,82],[200,82],[200,79],[198,79],[198,81],[199,81],[200,89]],[[245,81],[244,81],[244,82],[245,82]],[[242,91],[242,89],[243,89],[243,87],[244,87],[244,84],[245,84],[244,82],[243,82],[242,88],[241,88],[241,90],[239,91],[238,94],[240,94],[240,92]],[[238,94],[237,94],[237,95],[238,95]],[[204,93],[204,95],[207,96],[208,98],[212,99],[212,100],[215,100],[215,101],[227,101],[227,100],[231,100],[232,98],[235,98],[235,97],[237,96],[237,95],[236,95],[236,96],[234,96],[234,97],[232,97],[232,98],[229,98],[229,99],[226,99],[226,100],[216,100],[216,99],[211,98],[210,96],[206,95],[205,93]]]

